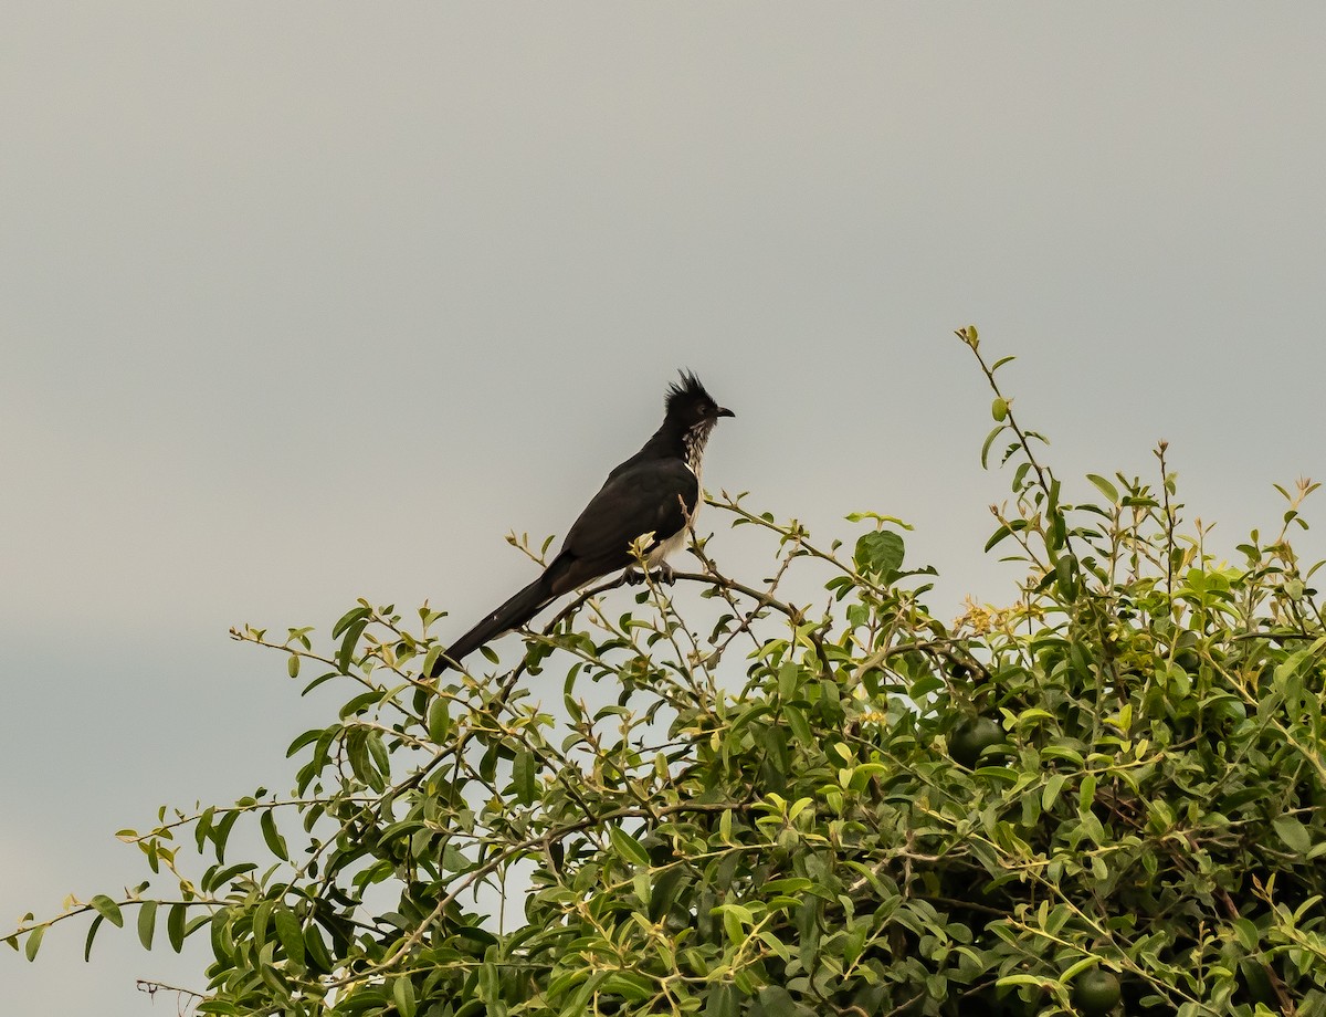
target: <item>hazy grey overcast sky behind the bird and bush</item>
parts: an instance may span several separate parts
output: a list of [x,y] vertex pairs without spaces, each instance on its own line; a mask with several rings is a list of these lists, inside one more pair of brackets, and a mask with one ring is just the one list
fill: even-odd
[[[1166,438],[1227,545],[1277,528],[1326,472],[1322,38],[1307,4],[7,4],[5,927],[143,878],[113,834],[158,805],[289,785],[333,703],[231,625],[459,631],[679,366],[739,414],[711,489],[911,521],[941,614],[1013,598],[968,322],[1062,476]],[[0,959],[8,1009],[202,981],[84,931]]]

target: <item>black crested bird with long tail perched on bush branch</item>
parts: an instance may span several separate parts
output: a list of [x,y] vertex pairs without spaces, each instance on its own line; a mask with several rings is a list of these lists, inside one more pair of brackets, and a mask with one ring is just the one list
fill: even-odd
[[644,447],[611,473],[572,525],[562,549],[544,574],[453,642],[430,670],[440,675],[503,632],[518,628],[553,599],[599,575],[635,564],[633,548],[664,570],[664,558],[686,541],[700,505],[704,444],[720,416],[736,416],[713,402],[700,379],[683,371],[667,390],[663,426]]

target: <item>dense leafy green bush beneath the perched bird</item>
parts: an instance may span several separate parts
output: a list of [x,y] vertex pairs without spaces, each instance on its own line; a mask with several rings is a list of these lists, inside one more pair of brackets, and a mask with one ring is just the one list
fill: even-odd
[[[427,607],[361,602],[326,651],[245,628],[346,688],[290,745],[293,794],[123,831],[176,903],[145,883],[8,941],[90,914],[90,948],[137,908],[147,947],[210,936],[220,1014],[1326,1013],[1326,626],[1288,540],[1315,485],[1237,564],[1180,532],[1163,444],[1156,485],[1090,476],[1069,505],[1006,361],[959,335],[996,395],[983,457],[1008,443],[1009,606],[945,625],[895,520],[851,517],[846,553],[724,495],[778,561],[745,585],[699,541],[703,635],[654,583],[610,619],[605,583],[514,668],[439,686]],[[782,593],[808,569],[827,609]],[[562,719],[528,680],[553,666]],[[267,853],[231,862],[241,819]]]

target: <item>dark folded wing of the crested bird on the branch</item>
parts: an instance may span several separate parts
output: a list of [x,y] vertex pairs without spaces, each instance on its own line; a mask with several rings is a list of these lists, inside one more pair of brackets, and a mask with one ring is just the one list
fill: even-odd
[[699,497],[700,483],[680,459],[640,463],[609,477],[566,534],[557,556],[564,568],[550,569],[561,573],[557,593],[629,566],[631,544],[646,533],[655,542],[680,533]]

